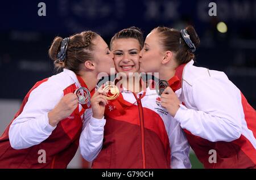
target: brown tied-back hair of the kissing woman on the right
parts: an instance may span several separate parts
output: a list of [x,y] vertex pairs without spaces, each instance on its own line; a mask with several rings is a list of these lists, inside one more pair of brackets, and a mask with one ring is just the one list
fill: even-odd
[[[195,28],[191,25],[185,28],[190,36],[191,41],[195,44],[196,48],[200,44],[200,39],[197,36]],[[176,61],[179,65],[188,63],[191,59],[195,59],[195,54],[188,48],[188,45],[183,40],[180,31],[167,27],[157,27],[152,31],[159,33],[159,41],[164,50],[170,50],[176,53]],[[151,31],[151,32],[152,32]]]

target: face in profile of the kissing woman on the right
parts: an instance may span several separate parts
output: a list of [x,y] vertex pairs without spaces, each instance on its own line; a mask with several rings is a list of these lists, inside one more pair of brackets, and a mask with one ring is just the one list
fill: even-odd
[[159,44],[159,35],[152,31],[146,37],[144,47],[140,53],[139,70],[141,72],[159,72],[164,58],[162,46]]

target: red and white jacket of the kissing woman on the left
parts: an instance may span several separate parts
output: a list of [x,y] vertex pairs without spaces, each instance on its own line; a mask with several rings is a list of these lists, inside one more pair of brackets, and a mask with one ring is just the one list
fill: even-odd
[[32,87],[0,137],[0,168],[67,168],[79,147],[83,108],[56,127],[49,125],[48,112],[77,87],[76,74],[67,69]]

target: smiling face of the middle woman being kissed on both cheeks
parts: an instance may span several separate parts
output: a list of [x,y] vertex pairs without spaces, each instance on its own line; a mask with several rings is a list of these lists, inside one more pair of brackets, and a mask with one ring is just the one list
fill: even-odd
[[[117,72],[139,72],[141,46],[135,38],[117,38],[112,43],[114,63]],[[130,74],[131,75],[131,74]]]

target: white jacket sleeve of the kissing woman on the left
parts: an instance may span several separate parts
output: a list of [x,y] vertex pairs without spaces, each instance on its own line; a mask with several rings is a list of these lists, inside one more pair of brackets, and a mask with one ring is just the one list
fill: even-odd
[[[51,95],[51,97],[49,97]],[[55,127],[49,125],[48,112],[54,108],[63,92],[45,82],[28,97],[22,113],[14,119],[9,130],[11,147],[29,148],[46,140]]]

